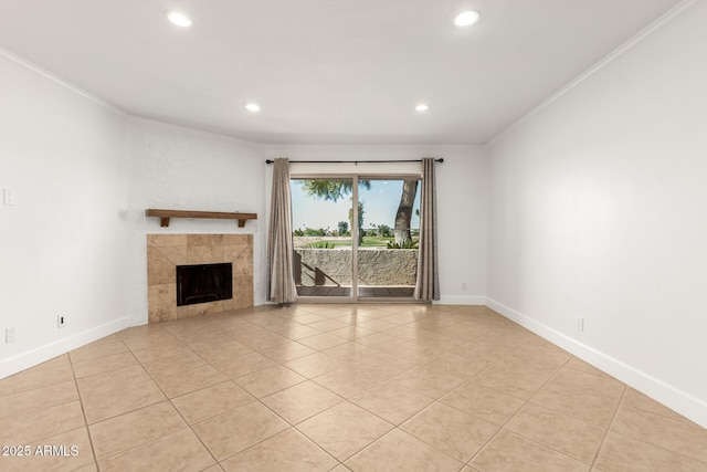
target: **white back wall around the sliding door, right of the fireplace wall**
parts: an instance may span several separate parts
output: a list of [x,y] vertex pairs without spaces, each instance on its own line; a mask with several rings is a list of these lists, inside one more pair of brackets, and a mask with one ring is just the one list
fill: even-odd
[[[407,160],[441,157],[436,165],[441,303],[483,304],[488,255],[489,162],[481,146],[268,146],[268,158],[291,160]],[[309,164],[291,172],[420,174],[420,164]],[[462,289],[466,284],[466,289]]]

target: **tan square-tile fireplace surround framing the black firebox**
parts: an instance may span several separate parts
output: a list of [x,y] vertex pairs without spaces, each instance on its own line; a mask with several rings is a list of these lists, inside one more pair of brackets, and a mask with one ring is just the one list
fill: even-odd
[[[177,306],[177,265],[233,264],[233,298]],[[148,234],[149,323],[253,306],[252,234]]]

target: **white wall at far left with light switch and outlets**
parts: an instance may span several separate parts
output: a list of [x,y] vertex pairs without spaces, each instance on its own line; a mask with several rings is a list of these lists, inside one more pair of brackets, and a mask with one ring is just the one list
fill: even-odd
[[3,51],[0,93],[1,378],[128,318],[126,116]]

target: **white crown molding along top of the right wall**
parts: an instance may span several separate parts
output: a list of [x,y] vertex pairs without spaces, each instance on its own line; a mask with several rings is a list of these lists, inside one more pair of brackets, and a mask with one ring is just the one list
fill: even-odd
[[581,73],[579,76],[570,81],[567,85],[564,85],[563,87],[555,92],[552,95],[550,95],[548,98],[542,101],[540,104],[536,105],[528,113],[523,115],[520,118],[513,122],[504,130],[502,130],[496,136],[494,136],[486,143],[484,143],[484,145],[493,146],[495,143],[502,139],[505,135],[510,133],[513,129],[530,120],[538,113],[542,112],[545,108],[552,105],[562,96],[564,96],[566,94],[570,93],[582,83],[590,80],[592,76],[594,76],[594,74],[601,72],[604,67],[609,66],[614,61],[623,56],[624,54],[627,54],[631,51],[635,50],[636,48],[640,48],[646,44],[647,42],[650,42],[651,40],[659,35],[661,33],[666,31],[668,28],[673,27],[683,17],[690,14],[693,11],[699,9],[705,3],[707,3],[707,0],[684,0],[683,2],[676,4],[671,10],[665,12],[661,18],[658,18],[653,23],[648,24],[646,28],[641,30],[641,32],[639,32],[633,38],[631,38],[630,40],[621,44],[619,48],[616,48],[615,50],[606,54],[603,59],[601,59],[594,65],[592,65],[587,71]]

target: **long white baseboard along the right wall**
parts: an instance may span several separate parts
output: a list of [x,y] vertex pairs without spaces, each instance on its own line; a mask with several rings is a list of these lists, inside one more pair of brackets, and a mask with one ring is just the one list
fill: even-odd
[[486,298],[486,305],[585,363],[677,411],[703,428],[707,428],[707,401],[678,390],[661,379],[582,344],[493,298]]

